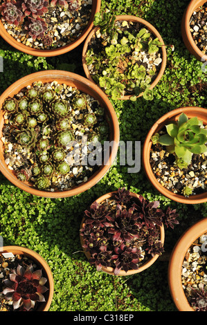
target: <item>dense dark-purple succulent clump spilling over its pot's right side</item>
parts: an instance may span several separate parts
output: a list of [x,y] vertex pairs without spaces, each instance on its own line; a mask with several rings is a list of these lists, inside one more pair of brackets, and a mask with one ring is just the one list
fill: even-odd
[[143,196],[134,199],[129,190],[118,189],[111,198],[93,203],[84,212],[80,230],[82,247],[90,253],[89,262],[96,266],[120,270],[137,270],[155,254],[163,252],[159,227],[174,228],[176,210],[164,212],[159,201],[149,202]]

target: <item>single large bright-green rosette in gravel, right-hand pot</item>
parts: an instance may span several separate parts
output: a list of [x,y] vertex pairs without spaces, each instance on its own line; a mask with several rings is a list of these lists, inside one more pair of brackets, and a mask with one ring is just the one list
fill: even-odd
[[184,113],[179,115],[177,122],[166,125],[167,134],[159,136],[157,142],[176,156],[179,168],[187,168],[192,154],[207,153],[207,129],[197,117],[188,119]]

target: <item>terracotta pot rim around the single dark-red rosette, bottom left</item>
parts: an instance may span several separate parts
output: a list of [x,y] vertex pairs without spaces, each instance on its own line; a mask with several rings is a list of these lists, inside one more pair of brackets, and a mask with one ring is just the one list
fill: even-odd
[[1,247],[0,255],[3,252],[12,252],[13,254],[25,254],[26,256],[30,257],[31,259],[39,263],[39,266],[42,267],[42,269],[46,273],[46,277],[48,278],[48,288],[49,288],[48,299],[46,299],[46,302],[43,303],[45,304],[45,306],[42,309],[42,311],[48,311],[48,309],[51,306],[51,302],[53,300],[54,281],[53,281],[53,274],[51,272],[51,268],[48,266],[48,263],[45,261],[45,259],[34,250],[30,250],[30,248],[25,248],[23,246],[17,246],[17,245],[8,245],[8,246]]

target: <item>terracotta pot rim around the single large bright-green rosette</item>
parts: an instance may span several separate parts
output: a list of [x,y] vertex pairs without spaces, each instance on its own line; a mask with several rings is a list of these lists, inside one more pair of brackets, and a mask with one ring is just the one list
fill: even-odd
[[159,132],[165,124],[172,120],[178,120],[179,115],[181,113],[185,113],[188,118],[193,118],[197,116],[199,120],[203,120],[204,124],[207,124],[207,109],[203,109],[201,107],[181,107],[179,109],[174,109],[165,115],[163,115],[157,122],[152,126],[147,137],[145,139],[145,143],[143,145],[143,169],[145,170],[145,174],[147,178],[150,180],[152,185],[164,196],[170,198],[171,200],[177,201],[179,203],[187,203],[187,204],[196,204],[196,203],[204,203],[207,201],[206,192],[203,194],[192,195],[186,198],[185,196],[170,192],[168,189],[165,189],[159,181],[154,176],[150,165],[150,149],[152,147],[152,136],[154,133]]

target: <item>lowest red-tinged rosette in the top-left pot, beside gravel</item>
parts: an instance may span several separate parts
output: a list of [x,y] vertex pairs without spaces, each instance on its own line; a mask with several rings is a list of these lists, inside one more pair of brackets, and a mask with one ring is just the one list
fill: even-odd
[[37,17],[37,19],[28,17],[28,23],[26,24],[25,28],[28,30],[28,35],[33,37],[33,40],[42,39],[46,30],[48,30],[46,21],[40,17]]

